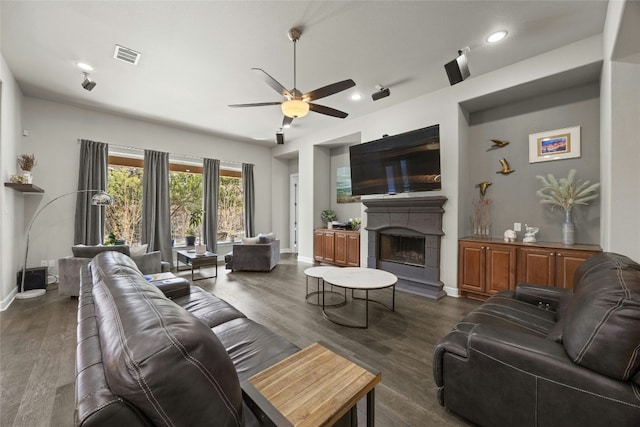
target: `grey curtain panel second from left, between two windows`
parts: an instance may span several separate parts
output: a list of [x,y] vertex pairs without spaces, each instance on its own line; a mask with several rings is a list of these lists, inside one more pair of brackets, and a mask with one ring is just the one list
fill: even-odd
[[142,177],[142,243],[160,251],[173,266],[169,201],[169,153],[144,150]]

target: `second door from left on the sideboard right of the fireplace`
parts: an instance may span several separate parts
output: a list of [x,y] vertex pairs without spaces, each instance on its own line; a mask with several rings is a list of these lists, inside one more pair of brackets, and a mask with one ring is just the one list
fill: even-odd
[[487,245],[485,292],[496,294],[516,287],[516,248],[507,245]]

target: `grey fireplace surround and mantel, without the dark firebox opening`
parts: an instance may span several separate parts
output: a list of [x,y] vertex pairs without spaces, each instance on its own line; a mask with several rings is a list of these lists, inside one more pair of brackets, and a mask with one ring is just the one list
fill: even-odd
[[[367,266],[398,276],[400,290],[433,299],[442,298],[446,293],[442,290],[443,284],[440,282],[440,238],[444,235],[442,215],[446,201],[447,198],[443,196],[362,200],[367,207]],[[402,233],[401,230],[407,230],[407,233]],[[380,235],[388,231],[424,236],[424,267],[381,260]]]

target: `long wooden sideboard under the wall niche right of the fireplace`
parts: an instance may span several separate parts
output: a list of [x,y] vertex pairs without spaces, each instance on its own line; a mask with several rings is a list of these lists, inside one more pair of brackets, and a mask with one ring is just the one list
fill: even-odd
[[520,282],[570,289],[580,263],[598,252],[597,245],[460,239],[458,288],[462,296],[475,299],[513,290]]

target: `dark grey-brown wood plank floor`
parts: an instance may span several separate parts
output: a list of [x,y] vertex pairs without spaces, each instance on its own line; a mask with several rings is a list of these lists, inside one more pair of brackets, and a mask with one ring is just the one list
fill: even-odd
[[[300,347],[324,341],[380,370],[376,425],[469,425],[438,405],[432,354],[437,340],[477,302],[450,297],[435,302],[397,292],[395,312],[371,304],[369,329],[345,328],[304,302],[308,267],[283,256],[270,273],[229,273],[220,268],[217,279],[195,284]],[[390,302],[391,292],[379,291],[375,297]],[[73,425],[76,310],[77,300],[59,297],[51,289],[45,297],[16,300],[0,313],[0,426]],[[335,312],[360,320],[362,310],[357,302]]]

